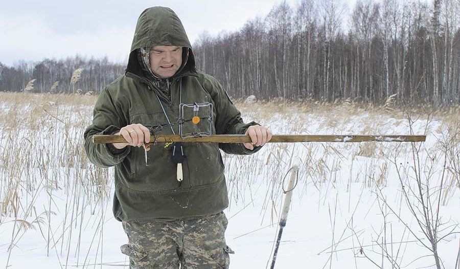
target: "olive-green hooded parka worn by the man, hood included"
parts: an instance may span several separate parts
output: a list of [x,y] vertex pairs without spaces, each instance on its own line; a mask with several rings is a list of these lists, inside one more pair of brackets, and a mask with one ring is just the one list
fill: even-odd
[[[148,79],[137,59],[138,49],[151,46],[189,48],[186,64],[168,79],[163,86],[166,89]],[[245,124],[220,83],[196,70],[191,44],[177,15],[164,7],[146,9],[137,21],[126,73],[102,89],[93,123],[84,132],[89,160],[99,167],[115,166],[113,214],[118,220],[178,219],[220,212],[228,206],[228,197],[219,148],[233,154],[260,149],[248,150],[243,144],[185,143],[187,159],[182,163],[180,184],[172,147],[165,148],[165,143],[159,142],[147,152],[148,166],[142,147],[119,150],[112,144],[93,143],[93,135],[111,135],[129,124],[167,124],[159,100],[170,121],[175,122],[180,92],[182,103],[213,104],[213,134],[243,134],[250,125],[257,124]],[[178,124],[172,127],[177,134]],[[170,135],[172,131],[167,127],[158,134]]]

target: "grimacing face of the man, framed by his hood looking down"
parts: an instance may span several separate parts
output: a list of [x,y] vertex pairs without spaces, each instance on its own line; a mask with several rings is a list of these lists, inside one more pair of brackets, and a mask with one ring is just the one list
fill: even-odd
[[181,65],[182,47],[155,46],[150,48],[150,69],[158,77],[172,77]]

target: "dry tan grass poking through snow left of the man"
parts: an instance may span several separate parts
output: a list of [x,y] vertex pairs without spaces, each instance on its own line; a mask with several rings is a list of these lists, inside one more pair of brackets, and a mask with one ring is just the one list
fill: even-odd
[[[92,96],[0,94],[0,225],[14,217],[10,254],[30,228],[42,232],[50,250],[71,242],[72,226],[86,224],[77,218],[85,211],[103,215],[102,205],[109,199],[108,173],[87,169],[82,147],[82,131],[91,120],[88,108],[95,100]],[[65,208],[56,193],[67,197]],[[48,202],[45,206],[37,200]],[[53,212],[61,212],[64,221]]]

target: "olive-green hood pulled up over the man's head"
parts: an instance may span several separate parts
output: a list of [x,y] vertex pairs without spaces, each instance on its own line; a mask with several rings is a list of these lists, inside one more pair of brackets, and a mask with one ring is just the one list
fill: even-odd
[[170,8],[152,7],[144,10],[137,19],[132,39],[126,73],[143,77],[137,60],[137,50],[153,46],[180,46],[188,48],[189,56],[180,73],[196,74],[195,56],[187,33],[179,17]]

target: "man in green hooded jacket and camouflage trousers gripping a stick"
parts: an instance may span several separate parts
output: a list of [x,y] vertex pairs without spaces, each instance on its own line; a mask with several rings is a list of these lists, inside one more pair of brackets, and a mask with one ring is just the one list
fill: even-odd
[[[158,142],[145,151],[152,132],[246,134],[252,143]],[[113,134],[127,143],[91,139]],[[89,160],[115,167],[113,214],[128,235],[121,250],[130,268],[228,268],[232,250],[222,212],[228,197],[219,149],[251,154],[270,138],[269,129],[243,122],[214,77],[196,70],[191,44],[171,9],[142,12],[126,73],[103,88],[84,132]]]

